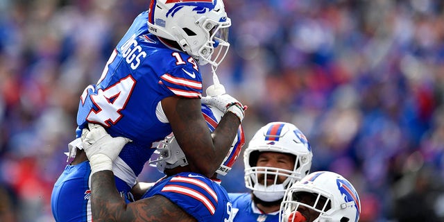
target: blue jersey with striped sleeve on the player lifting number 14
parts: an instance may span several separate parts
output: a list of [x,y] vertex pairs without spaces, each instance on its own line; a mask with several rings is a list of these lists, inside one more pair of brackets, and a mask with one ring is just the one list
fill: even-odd
[[197,221],[232,221],[232,206],[221,185],[198,173],[178,173],[163,178],[142,198],[162,195]]

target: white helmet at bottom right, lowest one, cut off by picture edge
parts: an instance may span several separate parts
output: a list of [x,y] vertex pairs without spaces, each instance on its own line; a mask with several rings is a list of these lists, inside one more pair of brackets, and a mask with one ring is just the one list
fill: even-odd
[[[312,195],[311,203],[302,203],[302,194]],[[298,210],[298,207],[303,206]],[[305,221],[304,210],[319,213],[314,222],[357,222],[361,213],[361,201],[353,185],[338,173],[318,171],[296,182],[285,193],[281,203],[280,221]],[[297,219],[300,216],[305,219]],[[310,219],[311,220],[311,219]]]

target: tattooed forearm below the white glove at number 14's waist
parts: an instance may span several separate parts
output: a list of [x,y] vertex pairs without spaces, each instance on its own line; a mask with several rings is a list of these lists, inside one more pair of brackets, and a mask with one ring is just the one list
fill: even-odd
[[120,221],[126,203],[117,191],[112,171],[98,171],[91,178],[92,218],[94,221]]

